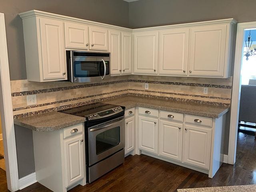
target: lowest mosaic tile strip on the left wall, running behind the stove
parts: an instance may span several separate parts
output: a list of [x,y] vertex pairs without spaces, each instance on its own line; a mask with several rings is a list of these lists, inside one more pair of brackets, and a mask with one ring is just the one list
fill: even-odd
[[24,117],[33,116],[33,115],[39,115],[39,114],[43,114],[43,113],[47,113],[47,112],[64,110],[64,109],[68,109],[68,108],[72,108],[72,107],[76,107],[76,106],[92,104],[92,103],[95,103],[95,102],[100,102],[100,101],[108,100],[108,99],[114,99],[114,98],[118,98],[118,97],[122,97],[122,96],[127,96],[127,95],[128,95],[128,93],[120,94],[120,95],[116,95],[116,96],[105,97],[105,98],[100,98],[100,99],[93,99],[93,100],[90,100],[90,101],[79,102],[79,103],[76,103],[76,104],[69,104],[69,105],[64,105],[64,106],[58,106],[58,107],[53,107],[53,108],[49,108],[49,109],[44,109],[44,110],[38,110],[38,111],[33,111],[33,112],[28,112],[28,113],[23,113],[23,114],[17,114],[17,115],[14,115],[13,118],[14,119],[18,119],[18,118],[24,118]]

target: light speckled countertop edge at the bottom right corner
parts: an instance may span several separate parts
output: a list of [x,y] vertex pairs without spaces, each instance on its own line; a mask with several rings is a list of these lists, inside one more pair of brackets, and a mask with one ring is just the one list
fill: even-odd
[[256,192],[256,185],[178,189],[177,192]]

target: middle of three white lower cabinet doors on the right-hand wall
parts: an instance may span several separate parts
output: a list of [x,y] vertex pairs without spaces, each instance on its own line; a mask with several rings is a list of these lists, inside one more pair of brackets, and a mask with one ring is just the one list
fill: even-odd
[[182,160],[183,124],[160,120],[159,155],[174,160]]

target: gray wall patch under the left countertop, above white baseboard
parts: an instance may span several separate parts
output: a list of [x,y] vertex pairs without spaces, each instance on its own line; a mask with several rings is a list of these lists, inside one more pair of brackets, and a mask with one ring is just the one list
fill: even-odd
[[15,125],[15,140],[19,179],[35,172],[32,130]]

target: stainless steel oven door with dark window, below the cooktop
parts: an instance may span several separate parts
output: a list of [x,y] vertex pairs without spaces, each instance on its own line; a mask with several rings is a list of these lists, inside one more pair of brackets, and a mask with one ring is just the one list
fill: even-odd
[[88,128],[89,166],[124,148],[124,117]]

